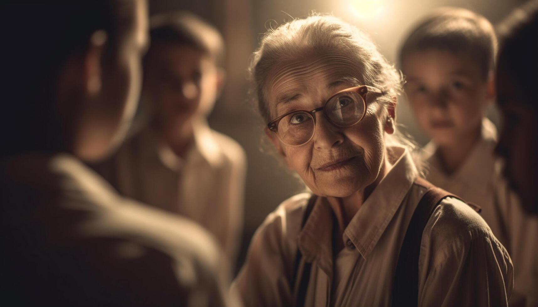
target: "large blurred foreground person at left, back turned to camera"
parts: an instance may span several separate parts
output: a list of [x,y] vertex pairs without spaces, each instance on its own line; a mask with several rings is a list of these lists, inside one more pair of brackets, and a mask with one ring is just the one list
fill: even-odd
[[209,234],[119,196],[82,163],[129,127],[146,3],[19,1],[2,12],[2,305],[226,305]]

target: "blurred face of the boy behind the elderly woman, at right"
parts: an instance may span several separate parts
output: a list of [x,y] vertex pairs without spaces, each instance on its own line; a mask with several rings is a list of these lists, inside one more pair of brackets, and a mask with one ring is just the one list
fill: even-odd
[[457,145],[478,129],[492,97],[469,56],[427,49],[409,54],[402,68],[410,105],[437,145]]

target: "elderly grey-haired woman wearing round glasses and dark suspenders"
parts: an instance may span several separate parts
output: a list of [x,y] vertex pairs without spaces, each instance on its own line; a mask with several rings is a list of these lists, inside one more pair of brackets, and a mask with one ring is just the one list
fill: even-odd
[[312,194],[254,235],[232,286],[246,306],[507,305],[506,249],[420,178],[394,137],[401,78],[372,41],[333,17],[296,19],[265,35],[251,73],[266,134]]

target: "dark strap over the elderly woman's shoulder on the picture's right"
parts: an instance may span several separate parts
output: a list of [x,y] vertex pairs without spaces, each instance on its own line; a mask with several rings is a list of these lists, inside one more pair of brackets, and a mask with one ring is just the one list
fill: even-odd
[[[415,183],[428,190],[420,199],[407,226],[394,275],[392,306],[417,306],[419,299],[420,242],[424,227],[426,227],[428,220],[443,198],[455,197],[461,199],[441,188],[435,187],[424,179],[418,178]],[[478,206],[470,206],[480,212]]]

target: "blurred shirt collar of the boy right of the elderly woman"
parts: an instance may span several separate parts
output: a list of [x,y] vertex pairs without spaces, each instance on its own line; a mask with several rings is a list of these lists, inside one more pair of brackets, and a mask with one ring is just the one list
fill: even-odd
[[429,176],[437,179],[436,182],[445,183],[438,183],[439,185],[447,185],[453,181],[472,182],[473,184],[487,182],[491,180],[494,173],[494,168],[492,167],[495,165],[493,150],[496,144],[497,128],[489,119],[484,118],[482,120],[480,140],[456,172],[446,175],[441,171],[442,168],[435,155],[438,147],[433,141],[424,146],[423,160],[430,166]]

